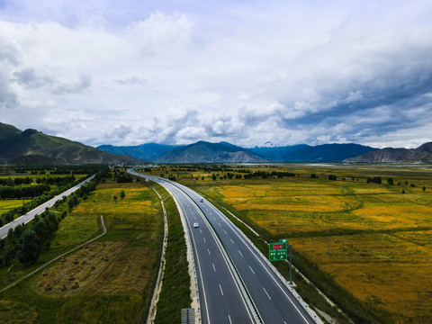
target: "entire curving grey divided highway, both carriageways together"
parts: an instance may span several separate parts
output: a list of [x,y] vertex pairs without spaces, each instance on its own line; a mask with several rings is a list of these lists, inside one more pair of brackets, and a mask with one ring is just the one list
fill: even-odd
[[[163,178],[139,174],[133,170],[131,175],[147,177],[163,185],[170,192],[184,211],[188,228],[193,238],[193,255],[197,265],[200,293],[202,323],[315,323],[311,314],[306,311],[275,271],[269,266],[257,249],[244,237],[240,230],[217,208],[192,189]],[[199,223],[198,229],[191,224]],[[212,230],[211,230],[212,229]],[[217,242],[219,243],[219,247]],[[228,252],[229,260],[225,260],[238,273],[241,283],[246,287],[246,294],[241,298],[249,315],[245,317],[241,302],[231,299],[240,294],[238,284],[229,275],[220,260],[218,249]],[[199,270],[199,271],[198,271]],[[220,273],[223,273],[220,277]],[[237,293],[237,292],[238,293]],[[223,293],[222,293],[223,292]],[[229,293],[226,293],[229,292]],[[228,295],[227,298],[225,297]],[[250,297],[247,298],[247,295]],[[247,301],[249,307],[247,307]],[[251,306],[253,305],[253,306]],[[234,307],[233,307],[234,306]],[[241,307],[240,307],[241,306]],[[257,308],[257,311],[253,311]],[[218,318],[219,314],[224,314]],[[226,320],[229,314],[229,320]],[[313,314],[312,314],[313,315]],[[224,320],[225,319],[225,320]],[[318,320],[320,322],[320,320]]]

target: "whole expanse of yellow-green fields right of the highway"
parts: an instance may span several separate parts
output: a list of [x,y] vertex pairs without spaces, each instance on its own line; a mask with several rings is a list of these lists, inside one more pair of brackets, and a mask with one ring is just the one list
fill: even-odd
[[[268,241],[288,238],[294,265],[356,322],[432,320],[430,167],[261,169],[296,176],[223,180],[222,173],[212,172],[219,174],[212,181],[211,173],[197,170],[179,173],[179,180],[229,208]],[[338,180],[329,181],[328,175],[338,175]],[[367,184],[369,176],[381,176],[383,184]],[[387,184],[388,177],[393,185]],[[265,245],[258,246],[267,253]],[[286,273],[286,266],[275,265]],[[299,292],[311,299],[302,287]]]

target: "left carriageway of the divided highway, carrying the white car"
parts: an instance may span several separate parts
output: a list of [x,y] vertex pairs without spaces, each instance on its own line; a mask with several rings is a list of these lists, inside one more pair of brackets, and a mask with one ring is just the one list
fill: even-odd
[[[151,179],[166,187],[184,213],[192,239],[202,323],[256,323],[229,266],[229,257],[220,247],[208,220],[200,216],[201,211],[182,190],[158,178]],[[198,223],[198,228],[193,228],[194,222]]]

